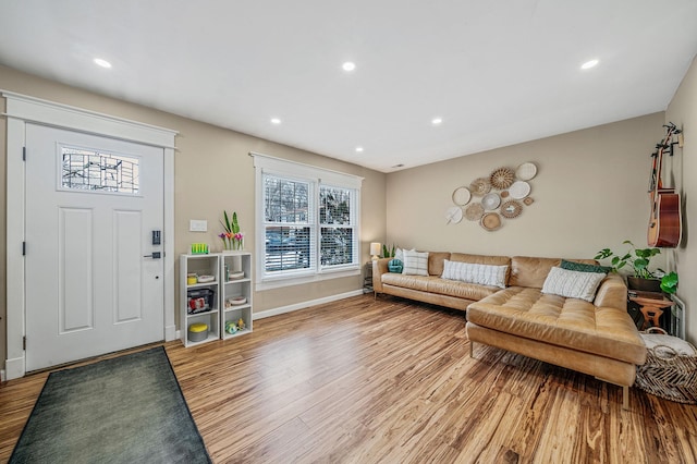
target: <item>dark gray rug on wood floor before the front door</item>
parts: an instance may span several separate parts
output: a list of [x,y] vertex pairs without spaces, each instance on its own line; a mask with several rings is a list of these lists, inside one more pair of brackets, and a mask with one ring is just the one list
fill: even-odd
[[52,373],[11,463],[210,463],[162,346]]

